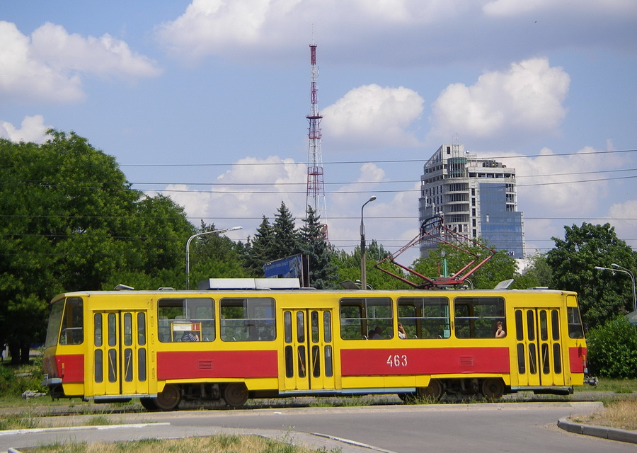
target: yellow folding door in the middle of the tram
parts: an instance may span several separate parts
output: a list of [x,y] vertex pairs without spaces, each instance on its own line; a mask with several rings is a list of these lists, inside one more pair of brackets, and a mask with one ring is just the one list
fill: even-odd
[[332,312],[286,309],[283,391],[334,389]]

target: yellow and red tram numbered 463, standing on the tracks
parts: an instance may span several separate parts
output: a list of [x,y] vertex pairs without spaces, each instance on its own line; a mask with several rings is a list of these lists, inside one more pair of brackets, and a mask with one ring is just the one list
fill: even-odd
[[572,392],[585,382],[586,343],[574,292],[210,279],[189,291],[60,294],[44,367],[54,398],[140,398],[164,411],[248,397],[500,398]]

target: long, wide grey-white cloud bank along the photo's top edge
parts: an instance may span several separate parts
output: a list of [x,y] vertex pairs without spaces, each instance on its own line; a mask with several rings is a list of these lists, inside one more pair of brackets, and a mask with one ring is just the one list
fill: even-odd
[[[541,26],[529,28],[539,16]],[[512,40],[525,55],[592,42],[626,49],[634,18],[634,0],[193,0],[181,16],[161,24],[156,37],[172,55],[193,62],[209,55],[289,61],[316,25],[332,61],[424,66],[501,62],[511,59]]]

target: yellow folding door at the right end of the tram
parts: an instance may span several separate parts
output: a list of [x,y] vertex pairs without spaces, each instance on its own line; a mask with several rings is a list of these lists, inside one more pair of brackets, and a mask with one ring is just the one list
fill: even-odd
[[520,386],[563,386],[560,309],[515,308]]

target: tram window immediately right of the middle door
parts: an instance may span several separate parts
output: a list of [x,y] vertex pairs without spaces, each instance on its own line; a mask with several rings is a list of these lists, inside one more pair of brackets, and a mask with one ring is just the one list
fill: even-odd
[[389,297],[340,299],[340,337],[343,340],[372,338],[377,328],[381,338],[392,338],[393,326]]

